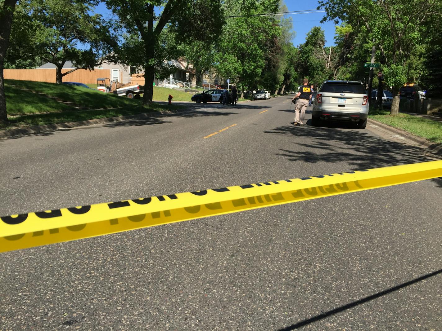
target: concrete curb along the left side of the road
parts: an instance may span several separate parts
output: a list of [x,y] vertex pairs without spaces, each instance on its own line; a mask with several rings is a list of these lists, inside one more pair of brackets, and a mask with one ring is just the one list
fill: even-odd
[[171,110],[160,110],[157,112],[141,113],[141,114],[137,114],[137,115],[96,118],[93,120],[81,120],[78,122],[38,125],[38,126],[29,127],[29,128],[3,130],[3,131],[0,131],[0,138],[12,137],[14,135],[29,135],[29,134],[38,133],[38,132],[50,132],[50,131],[55,131],[58,129],[76,128],[76,127],[87,126],[87,125],[92,125],[92,124],[111,123],[111,122],[118,122],[118,121],[122,121],[122,120],[134,120],[134,119],[138,119],[138,118],[145,118],[145,117],[152,117],[152,116],[157,116],[157,115],[166,115],[166,114],[173,114],[173,113],[177,113],[177,112],[171,111]]

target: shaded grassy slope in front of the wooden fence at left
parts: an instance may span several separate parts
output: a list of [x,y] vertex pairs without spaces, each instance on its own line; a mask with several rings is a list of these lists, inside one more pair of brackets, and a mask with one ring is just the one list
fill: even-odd
[[[141,105],[141,100],[119,97],[84,87],[42,82],[6,80],[5,92],[9,123],[0,127],[3,130],[182,108],[155,103],[147,107]],[[73,108],[72,105],[57,102],[47,96],[57,97],[62,101],[73,102],[75,105],[95,110]]]

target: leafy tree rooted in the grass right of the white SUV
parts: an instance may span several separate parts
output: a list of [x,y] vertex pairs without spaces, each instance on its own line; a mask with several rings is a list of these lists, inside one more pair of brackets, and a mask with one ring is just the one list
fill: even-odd
[[427,23],[439,23],[442,0],[320,0],[319,5],[327,11],[324,20],[365,25],[368,40],[374,39],[380,50],[385,82],[394,84],[390,85],[394,95],[391,114],[399,113],[400,87],[408,80],[407,74],[415,75],[416,66],[421,66],[411,56],[422,56],[416,52],[432,32]]

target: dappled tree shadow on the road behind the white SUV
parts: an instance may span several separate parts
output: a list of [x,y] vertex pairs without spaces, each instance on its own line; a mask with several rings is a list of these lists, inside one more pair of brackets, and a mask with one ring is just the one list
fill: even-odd
[[[415,146],[389,141],[371,135],[368,130],[336,130],[336,128],[352,128],[351,124],[330,124],[330,127],[291,125],[281,126],[264,133],[289,135],[295,138],[293,150],[281,149],[275,155],[283,156],[290,161],[310,163],[346,162],[353,169],[381,168],[392,165],[402,165],[434,161],[436,155],[425,152]],[[297,139],[301,138],[301,139]],[[436,178],[438,186],[442,187],[442,178]]]

